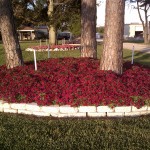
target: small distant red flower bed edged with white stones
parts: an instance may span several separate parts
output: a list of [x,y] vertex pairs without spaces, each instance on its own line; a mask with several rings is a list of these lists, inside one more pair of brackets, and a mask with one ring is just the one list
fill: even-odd
[[64,44],[64,45],[51,45],[48,47],[47,45],[42,45],[42,46],[32,46],[26,49],[26,51],[68,51],[68,50],[74,50],[74,49],[80,49],[79,44]]

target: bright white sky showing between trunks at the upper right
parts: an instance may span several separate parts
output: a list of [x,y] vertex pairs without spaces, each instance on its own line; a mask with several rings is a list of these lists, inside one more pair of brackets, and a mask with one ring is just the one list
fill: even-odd
[[[102,2],[100,3],[99,6],[97,6],[97,26],[98,27],[104,26],[104,24],[105,24],[106,0],[97,0],[97,3],[99,3],[100,1],[102,1]],[[128,5],[128,3],[126,3],[126,6],[125,6],[125,24],[141,23],[137,9],[133,9],[133,5],[135,5],[135,4],[132,4],[132,6],[131,6],[131,5]],[[149,14],[150,14],[150,12],[149,12]],[[142,13],[142,16],[143,15],[144,14]],[[149,17],[149,21],[150,21],[150,17]]]

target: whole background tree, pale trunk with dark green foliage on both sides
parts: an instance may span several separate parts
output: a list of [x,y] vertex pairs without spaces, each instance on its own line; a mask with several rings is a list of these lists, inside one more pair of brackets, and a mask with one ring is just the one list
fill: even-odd
[[13,0],[13,6],[17,25],[47,25],[50,43],[55,43],[55,30],[80,34],[81,0]]

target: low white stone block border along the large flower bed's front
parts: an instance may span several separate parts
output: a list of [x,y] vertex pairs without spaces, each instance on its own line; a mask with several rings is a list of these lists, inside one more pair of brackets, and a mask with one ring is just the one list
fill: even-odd
[[143,106],[137,109],[135,106],[38,106],[36,103],[8,103],[0,100],[0,112],[18,113],[35,116],[51,117],[125,117],[141,116],[150,114],[150,106]]

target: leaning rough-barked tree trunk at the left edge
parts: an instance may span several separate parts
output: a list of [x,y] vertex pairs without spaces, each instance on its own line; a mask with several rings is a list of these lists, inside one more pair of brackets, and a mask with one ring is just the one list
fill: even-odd
[[0,29],[5,49],[7,68],[23,65],[22,52],[14,24],[10,0],[0,1]]

